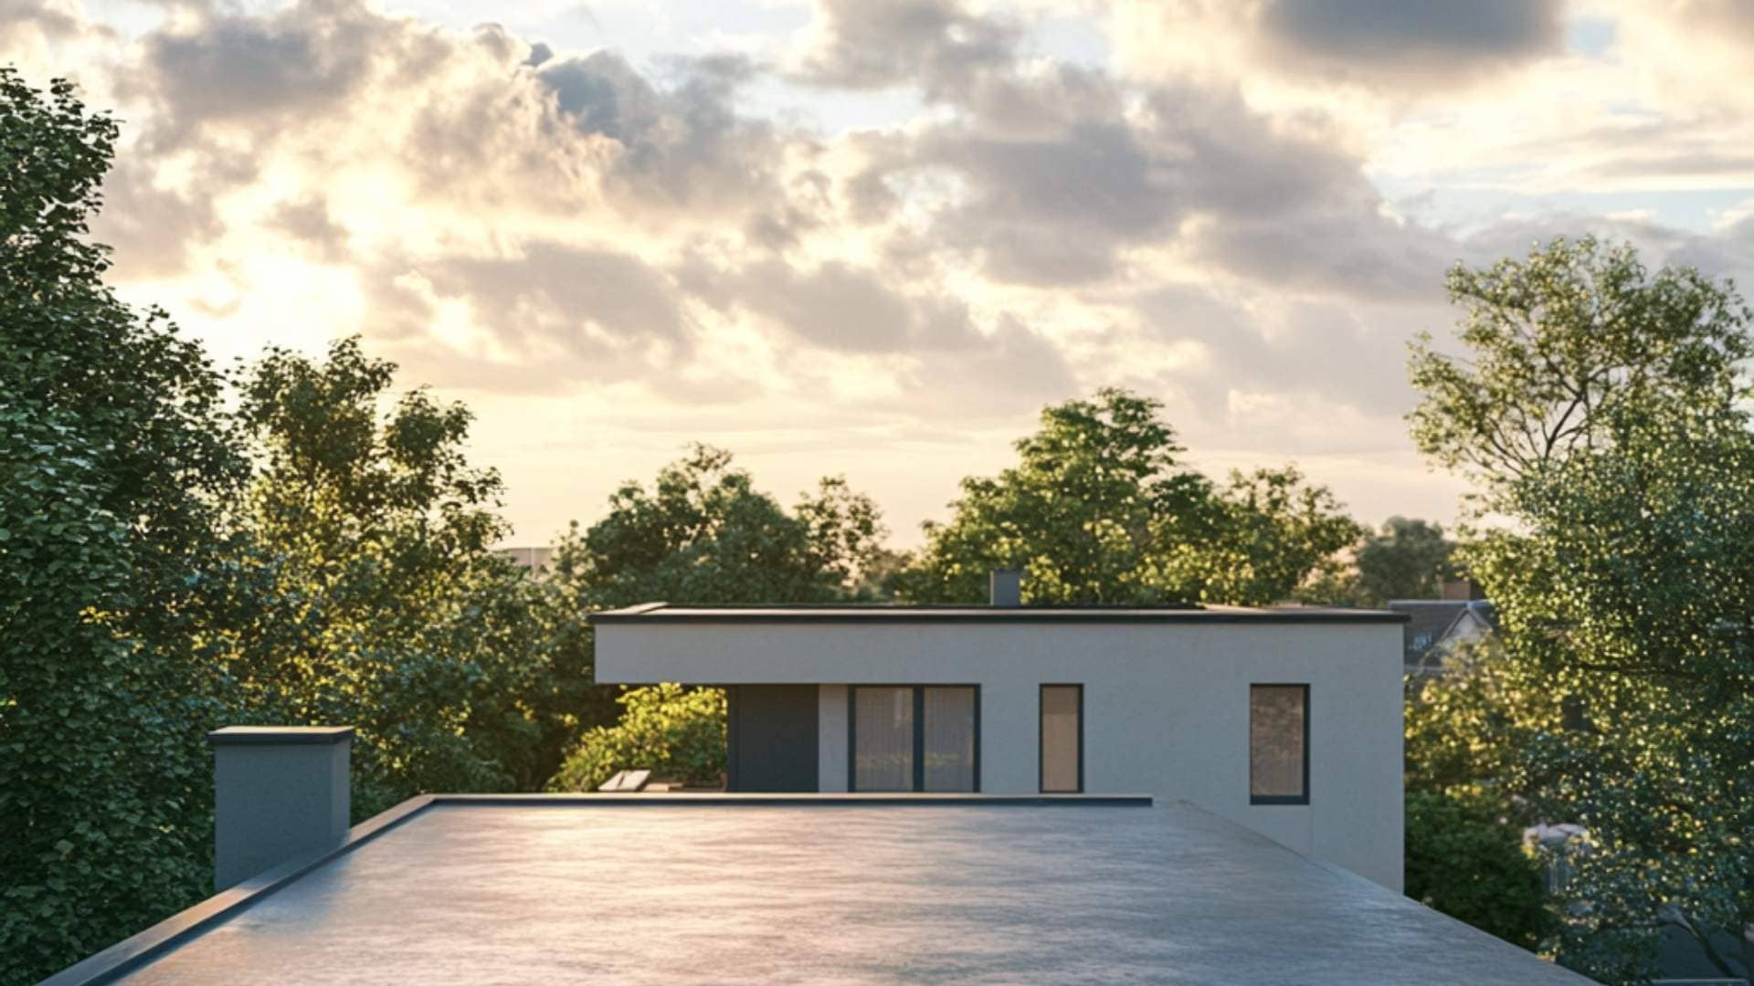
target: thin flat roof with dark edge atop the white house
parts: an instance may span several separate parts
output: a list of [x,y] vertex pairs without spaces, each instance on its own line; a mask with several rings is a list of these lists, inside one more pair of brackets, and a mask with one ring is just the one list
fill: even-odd
[[670,605],[591,614],[593,623],[1407,623],[1405,612],[1314,605]]

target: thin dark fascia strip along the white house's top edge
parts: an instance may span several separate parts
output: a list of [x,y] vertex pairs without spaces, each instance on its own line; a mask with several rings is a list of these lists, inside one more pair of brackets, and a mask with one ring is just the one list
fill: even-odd
[[593,612],[593,625],[658,625],[658,623],[1393,623],[1401,625],[1410,618],[1405,612],[1359,609],[1261,609],[1261,611],[1212,611],[1212,609],[1159,609],[1159,611],[1103,611],[1103,609],[995,609],[991,612],[970,609],[809,609],[775,607],[751,609],[733,607],[710,611],[691,607],[686,611],[640,609]]

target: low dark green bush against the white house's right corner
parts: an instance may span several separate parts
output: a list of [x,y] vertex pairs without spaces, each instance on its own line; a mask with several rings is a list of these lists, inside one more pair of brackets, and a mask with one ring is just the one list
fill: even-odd
[[1522,826],[1482,797],[1407,791],[1407,897],[1529,951],[1556,923]]

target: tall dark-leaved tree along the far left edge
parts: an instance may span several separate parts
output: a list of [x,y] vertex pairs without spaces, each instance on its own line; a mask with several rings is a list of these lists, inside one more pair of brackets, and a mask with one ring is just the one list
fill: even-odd
[[0,982],[209,888],[223,377],[86,242],[116,125],[0,68]]

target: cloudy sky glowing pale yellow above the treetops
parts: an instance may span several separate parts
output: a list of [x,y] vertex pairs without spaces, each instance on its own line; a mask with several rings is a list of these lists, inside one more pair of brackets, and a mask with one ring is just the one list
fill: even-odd
[[700,440],[912,546],[1102,386],[1447,523],[1447,268],[1754,282],[1743,0],[0,0],[0,60],[123,121],[123,298],[221,361],[363,335],[475,412],[517,544]]

